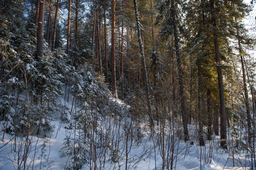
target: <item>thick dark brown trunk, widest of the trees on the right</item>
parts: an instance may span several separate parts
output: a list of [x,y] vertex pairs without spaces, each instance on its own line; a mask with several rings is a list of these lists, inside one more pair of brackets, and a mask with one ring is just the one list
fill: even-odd
[[215,7],[214,0],[210,0],[211,13],[212,13],[212,26],[213,36],[214,36],[214,48],[215,48],[215,60],[217,65],[217,73],[218,73],[218,87],[219,87],[219,97],[220,97],[220,126],[221,126],[221,147],[227,148],[227,126],[226,126],[226,112],[225,112],[225,100],[224,100],[224,88],[223,88],[223,80],[222,80],[222,71],[221,71],[221,60],[220,60],[220,52],[219,52],[219,42],[218,35],[216,34],[216,16],[215,16]]

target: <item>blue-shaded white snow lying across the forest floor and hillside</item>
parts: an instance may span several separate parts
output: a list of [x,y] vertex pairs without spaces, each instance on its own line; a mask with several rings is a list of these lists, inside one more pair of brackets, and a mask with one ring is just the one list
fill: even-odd
[[[90,75],[90,72],[87,72]],[[124,101],[120,99],[115,99],[113,97],[110,98],[111,102],[116,103],[123,115],[128,115],[129,111],[132,109],[131,106],[127,105]],[[72,101],[72,99],[70,100]],[[70,110],[72,107],[72,102],[66,102],[63,98],[61,98],[61,102],[67,106]],[[88,103],[84,102],[83,105],[87,106]],[[119,141],[119,149],[118,153],[122,155],[119,159],[112,157],[111,155],[106,155],[105,167],[104,170],[125,170],[125,125],[129,125],[131,123],[131,117],[128,116],[115,116],[114,117],[103,117],[99,116],[98,122],[98,130],[106,130],[111,127],[111,135],[114,136],[114,141],[110,141],[108,143],[108,147],[116,147],[115,140]],[[52,133],[48,134],[45,137],[37,137],[37,136],[29,136],[29,140],[31,143],[30,150],[28,154],[28,158],[26,160],[26,164],[29,164],[28,169],[32,169],[32,165],[34,164],[33,169],[47,170],[47,169],[55,169],[55,170],[63,170],[66,163],[70,160],[69,157],[63,157],[64,153],[67,151],[63,148],[63,143],[65,138],[68,136],[75,136],[75,131],[67,129],[65,127],[71,127],[76,123],[76,120],[68,113],[66,115],[67,123],[61,123],[59,120],[60,115],[56,113],[56,119],[53,119],[49,122],[50,125],[54,127]],[[119,127],[119,120],[122,120],[120,123],[123,124]],[[142,120],[141,120],[142,121]],[[37,121],[37,126],[45,125],[47,123],[46,119],[41,119]],[[24,122],[25,124],[25,122]],[[3,138],[3,130],[6,127],[6,124],[0,124],[2,131],[0,132],[0,138]],[[189,125],[189,129],[192,130],[195,128],[193,125]],[[131,142],[129,137],[129,148],[131,148],[128,153],[128,170],[160,170],[162,168],[162,157],[161,151],[157,148],[155,149],[155,145],[157,145],[157,139],[154,135],[153,138],[150,137],[150,130],[147,125],[141,124],[137,129],[135,125],[133,125],[134,132],[140,131],[140,142],[136,142],[135,139]],[[160,127],[155,127],[156,132],[160,132]],[[166,133],[168,133],[169,129],[166,129]],[[78,131],[76,131],[78,132]],[[121,136],[118,138],[118,134]],[[138,133],[139,134],[139,133]],[[245,170],[250,169],[250,165],[248,163],[248,158],[246,157],[246,153],[236,153],[235,154],[235,167],[233,167],[233,160],[230,153],[226,150],[213,145],[218,145],[220,138],[219,136],[215,136],[213,141],[205,141],[206,146],[201,147],[198,146],[196,141],[194,140],[195,145],[190,145],[190,142],[182,142],[177,138],[176,134],[172,134],[173,142],[175,144],[175,152],[174,152],[174,164],[173,169],[175,170]],[[17,137],[17,143],[24,144],[26,141],[26,137]],[[14,136],[5,134],[4,140],[0,140],[0,169],[12,170],[17,169],[17,156],[18,152],[14,152]],[[241,140],[242,143],[243,140]],[[167,144],[167,143],[166,143]],[[17,145],[18,147],[18,145]],[[165,147],[166,148],[166,147]],[[99,148],[97,148],[99,149]],[[238,151],[237,149],[235,149]],[[164,150],[167,152],[167,148]],[[210,156],[210,154],[212,154]],[[114,153],[112,153],[112,156]],[[82,156],[81,156],[82,157]],[[210,157],[210,158],[209,158]],[[42,160],[41,160],[42,159]],[[245,160],[247,159],[247,163],[245,164]],[[99,160],[99,158],[98,158]],[[170,160],[170,157],[169,157]],[[89,160],[90,161],[90,160]],[[115,161],[115,162],[114,162]],[[167,158],[166,158],[167,161]],[[239,162],[244,162],[240,164]],[[90,162],[88,164],[84,164],[81,170],[90,170]],[[98,169],[100,162],[97,161]],[[170,167],[169,167],[170,169]],[[167,167],[165,167],[167,170]]]

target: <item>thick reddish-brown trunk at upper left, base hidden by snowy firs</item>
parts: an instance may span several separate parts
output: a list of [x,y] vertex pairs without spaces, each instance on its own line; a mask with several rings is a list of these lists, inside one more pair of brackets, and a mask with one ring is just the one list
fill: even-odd
[[38,42],[35,60],[40,62],[43,57],[43,46],[44,46],[44,5],[45,0],[40,0],[39,3],[39,17],[38,17]]

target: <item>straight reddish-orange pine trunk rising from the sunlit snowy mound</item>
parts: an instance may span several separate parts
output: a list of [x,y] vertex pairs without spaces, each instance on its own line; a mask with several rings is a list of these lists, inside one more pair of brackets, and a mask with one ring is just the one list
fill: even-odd
[[112,65],[112,94],[115,98],[117,96],[116,90],[116,53],[115,53],[115,26],[116,26],[116,3],[115,0],[112,0],[112,23],[111,23],[111,65]]

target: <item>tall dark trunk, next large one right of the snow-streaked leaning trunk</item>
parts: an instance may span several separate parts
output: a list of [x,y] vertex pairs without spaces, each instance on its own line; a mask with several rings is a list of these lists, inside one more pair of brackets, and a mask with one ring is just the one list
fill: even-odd
[[178,79],[179,79],[179,91],[180,91],[180,104],[181,104],[181,114],[182,114],[182,123],[184,130],[184,140],[189,140],[189,130],[187,124],[187,115],[185,111],[185,96],[184,96],[184,87],[183,87],[183,73],[181,67],[181,59],[180,59],[180,49],[179,49],[179,38],[178,38],[178,30],[177,30],[177,22],[176,22],[176,11],[175,11],[175,0],[171,1],[172,8],[172,21],[173,21],[173,32],[175,39],[175,51],[177,57],[177,65],[178,65]]

